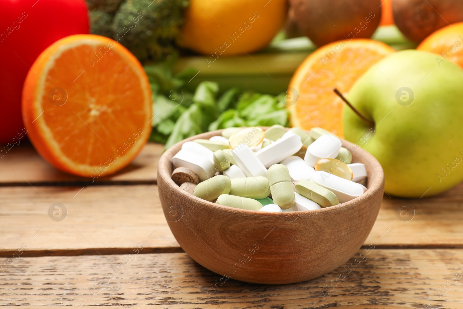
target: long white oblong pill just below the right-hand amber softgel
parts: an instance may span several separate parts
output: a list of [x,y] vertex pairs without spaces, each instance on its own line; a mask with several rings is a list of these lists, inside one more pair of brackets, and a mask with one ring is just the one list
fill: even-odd
[[353,181],[338,177],[322,170],[317,170],[313,173],[310,181],[332,191],[340,203],[348,202],[363,194],[363,188],[359,183],[354,183]]

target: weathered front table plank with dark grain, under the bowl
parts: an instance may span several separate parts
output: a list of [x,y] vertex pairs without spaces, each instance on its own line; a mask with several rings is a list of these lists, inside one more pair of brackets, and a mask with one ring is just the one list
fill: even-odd
[[[344,266],[325,276],[286,285],[225,280],[196,264],[186,253],[19,257],[11,263],[2,258],[0,265],[6,266],[0,273],[0,305],[463,308],[463,249],[375,248],[363,258],[361,253],[365,251],[357,252]],[[256,251],[247,263],[259,263],[258,254]],[[356,258],[363,261],[357,262]],[[445,293],[443,285],[447,287]]]

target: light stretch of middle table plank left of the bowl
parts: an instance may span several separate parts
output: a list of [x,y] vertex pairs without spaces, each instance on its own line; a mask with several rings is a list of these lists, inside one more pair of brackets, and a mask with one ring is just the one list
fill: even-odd
[[[156,185],[82,188],[0,188],[0,255],[11,256],[21,244],[24,256],[123,253],[138,243],[144,252],[181,250]],[[50,219],[54,203],[67,209],[64,220]]]

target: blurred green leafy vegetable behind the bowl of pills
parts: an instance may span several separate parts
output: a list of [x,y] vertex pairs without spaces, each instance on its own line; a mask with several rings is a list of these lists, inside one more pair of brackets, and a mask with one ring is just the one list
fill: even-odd
[[150,65],[147,69],[153,92],[153,130],[150,140],[166,149],[190,136],[238,126],[288,126],[284,96],[225,91],[218,99],[216,82],[201,82],[194,94],[183,86],[198,72],[186,69],[172,75],[174,60]]

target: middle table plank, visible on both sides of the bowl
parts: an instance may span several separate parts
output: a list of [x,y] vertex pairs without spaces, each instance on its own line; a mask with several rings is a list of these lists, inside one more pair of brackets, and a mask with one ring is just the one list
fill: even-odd
[[[463,247],[462,190],[460,185],[421,200],[385,196],[365,245]],[[164,218],[156,185],[3,187],[0,196],[3,257],[11,256],[21,244],[27,246],[25,256],[117,254],[138,243],[145,252],[181,251]],[[56,202],[68,210],[63,221],[52,221],[48,214]],[[413,219],[399,221],[396,208],[409,204],[415,209]]]

